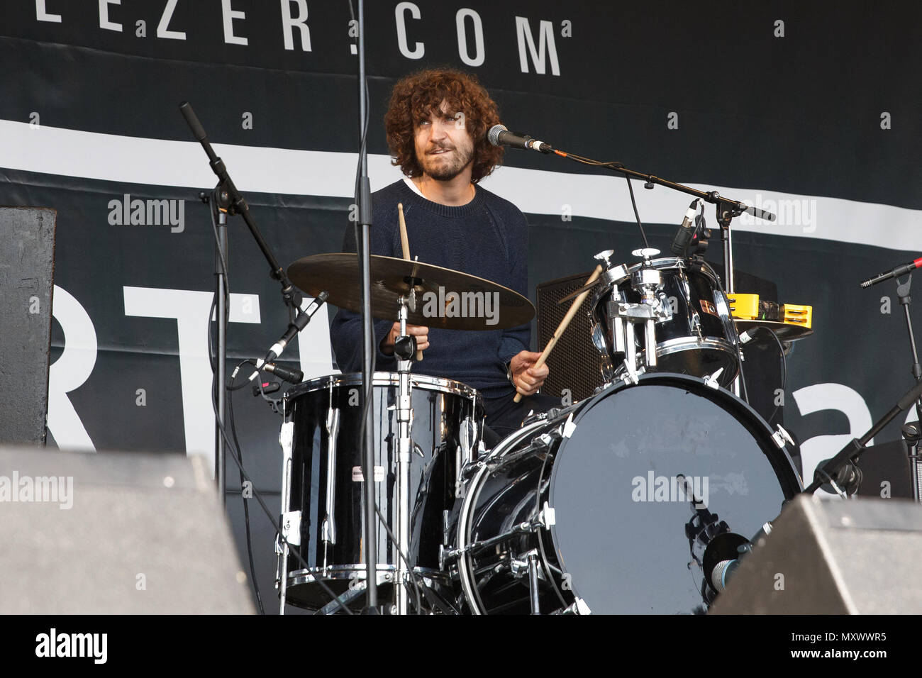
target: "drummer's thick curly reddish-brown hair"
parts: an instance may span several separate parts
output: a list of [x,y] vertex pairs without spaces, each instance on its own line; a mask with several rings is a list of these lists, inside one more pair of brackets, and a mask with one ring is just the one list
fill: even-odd
[[452,68],[428,69],[399,80],[391,93],[384,115],[387,146],[394,156],[391,163],[409,177],[422,176],[414,143],[416,128],[439,111],[446,101],[452,113],[464,113],[467,134],[474,141],[471,181],[477,184],[502,164],[502,147],[492,146],[487,130],[500,122],[496,102],[477,77]]

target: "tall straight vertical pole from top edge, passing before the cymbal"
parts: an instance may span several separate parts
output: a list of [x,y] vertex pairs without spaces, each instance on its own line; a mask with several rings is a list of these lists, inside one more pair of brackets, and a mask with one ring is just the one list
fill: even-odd
[[[364,534],[365,534],[365,585],[366,603],[364,613],[378,613],[378,553],[377,524],[374,501],[374,446],[372,435],[372,400],[374,394],[374,375],[372,374],[372,356],[374,355],[372,333],[372,189],[368,180],[368,151],[365,147],[365,112],[368,100],[365,96],[365,2],[359,0],[359,229],[361,243],[359,247],[359,266],[361,268],[361,333],[362,333],[362,408],[365,421],[362,422],[362,440],[364,456],[361,459],[364,482]],[[398,584],[399,585],[399,584]]]

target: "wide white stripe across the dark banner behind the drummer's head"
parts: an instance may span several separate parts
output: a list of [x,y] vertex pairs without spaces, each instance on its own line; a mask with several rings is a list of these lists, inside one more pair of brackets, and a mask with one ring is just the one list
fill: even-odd
[[[227,144],[214,147],[244,193],[352,196],[358,160],[355,153]],[[205,153],[195,141],[120,137],[0,120],[0,149],[0,166],[25,172],[195,188],[215,182]],[[548,158],[549,166],[555,161],[564,162]],[[384,155],[370,155],[368,168],[372,190],[401,176]],[[634,220],[621,176],[503,167],[483,184],[530,214]],[[743,215],[733,221],[738,231],[922,251],[922,210],[754,188],[689,185],[716,190],[778,215],[774,222]],[[642,182],[634,182],[634,194],[641,219],[649,223],[678,224],[690,202],[688,196],[663,186],[644,190]],[[713,212],[708,218],[715,226]]]

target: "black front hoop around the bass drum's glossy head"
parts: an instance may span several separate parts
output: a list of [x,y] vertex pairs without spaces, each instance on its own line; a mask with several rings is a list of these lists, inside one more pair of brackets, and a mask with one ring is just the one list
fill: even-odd
[[[798,473],[797,467],[794,465],[794,461],[791,459],[791,456],[787,451],[787,444],[781,447],[774,445],[774,440],[773,440],[774,430],[769,425],[769,423],[766,422],[762,418],[762,415],[759,414],[758,411],[754,410],[748,402],[736,396],[732,391],[729,391],[724,387],[717,387],[717,388],[708,387],[706,382],[700,376],[681,375],[679,373],[674,373],[674,372],[651,372],[651,373],[646,373],[644,375],[639,375],[637,383],[631,383],[631,382],[621,379],[618,383],[612,385],[613,386],[612,388],[606,388],[605,390],[599,391],[592,398],[586,398],[585,400],[583,400],[582,402],[585,404],[585,407],[580,408],[579,411],[573,416],[573,425],[578,426],[579,421],[583,419],[583,417],[585,417],[586,413],[589,410],[592,410],[592,406],[589,406],[589,403],[592,403],[596,400],[600,400],[601,399],[600,397],[603,394],[605,394],[606,397],[609,397],[610,394],[616,393],[626,388],[639,387],[643,385],[644,383],[650,384],[651,382],[653,382],[653,384],[650,384],[651,386],[652,385],[676,386],[675,383],[670,383],[670,382],[676,382],[676,381],[680,383],[684,382],[688,386],[695,387],[695,391],[694,391],[695,395],[700,395],[703,398],[707,398],[711,400],[716,405],[718,405],[718,407],[720,406],[720,404],[715,402],[715,400],[720,398],[721,400],[725,402],[733,403],[733,407],[735,409],[748,412],[750,416],[750,422],[754,422],[755,424],[759,425],[762,428],[762,430],[768,434],[768,440],[772,440],[773,445],[770,447],[770,449],[774,450],[774,452],[776,453],[781,453],[780,459],[777,456],[770,456],[769,454],[765,452],[765,450],[762,448],[762,445],[760,443],[760,448],[762,448],[762,454],[765,455],[765,457],[768,460],[769,465],[774,470],[774,475],[775,475],[776,480],[778,481],[778,484],[781,486],[782,494],[785,495],[784,501],[785,502],[790,501],[795,496],[797,496],[797,494],[803,492],[803,488],[804,488],[803,480],[800,478],[800,474]],[[735,418],[737,417],[736,411],[734,410],[728,410],[728,411],[730,414],[733,414]],[[748,425],[748,422],[746,422],[745,420],[739,420],[739,419],[737,421],[739,421],[751,433],[751,428]],[[565,439],[561,440],[561,445],[558,446],[554,450],[554,455],[553,455],[554,458],[557,458],[561,454],[561,451],[563,450],[565,446],[567,446],[567,443],[569,443],[570,440],[571,440],[570,436],[567,436]],[[758,438],[756,438],[756,440],[758,441]],[[768,440],[764,442],[768,442]],[[790,475],[793,477],[794,481],[796,482],[796,489],[793,492],[789,493],[788,492],[789,488],[787,486],[791,479],[787,478],[785,482],[780,478],[781,474],[779,473],[778,467],[776,466],[776,463],[775,463],[776,461],[778,462],[786,461],[787,462],[785,470],[790,471]],[[542,464],[541,481],[544,481],[545,479],[544,470],[547,468],[547,463],[548,461],[546,459],[545,462]],[[558,470],[560,470],[560,468],[561,467],[559,464],[554,464],[550,470],[550,478],[547,479],[547,482],[549,483],[548,502],[549,502],[549,506],[551,507],[553,507],[552,494],[554,491],[554,481],[557,478],[557,472]],[[784,504],[782,504],[782,506],[784,506]],[[779,512],[782,506],[778,507]],[[773,519],[773,518],[770,517],[768,519]],[[557,547],[557,542],[558,542],[557,526],[551,525],[548,531],[550,531],[550,540],[551,540],[551,543],[549,544],[549,546],[554,550],[555,553],[557,553],[557,548],[558,548]],[[538,545],[540,546],[543,552],[545,549],[545,544],[544,544],[544,540],[542,539],[542,537],[543,535],[540,532],[538,532]],[[546,562],[548,558],[547,554],[541,553],[541,555],[543,558],[542,563]],[[562,554],[558,554],[557,560],[561,563],[561,571],[564,573],[567,572],[563,564],[563,561],[562,561]],[[560,596],[561,591],[557,587],[556,580],[554,580],[551,577],[549,581],[554,591],[557,593],[558,596]],[[572,589],[570,592],[573,594],[574,597],[579,598],[578,591],[575,588]]]

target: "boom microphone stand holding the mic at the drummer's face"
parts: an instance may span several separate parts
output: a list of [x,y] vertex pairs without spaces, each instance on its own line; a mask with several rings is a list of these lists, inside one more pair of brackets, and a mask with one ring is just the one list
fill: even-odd
[[[648,190],[653,189],[655,184],[659,184],[661,186],[671,188],[674,191],[686,193],[689,196],[699,197],[704,202],[709,202],[714,205],[717,213],[717,223],[720,224],[720,239],[721,243],[724,245],[724,278],[726,279],[724,291],[726,291],[727,294],[732,294],[735,291],[733,282],[733,242],[730,233],[730,221],[733,220],[734,217],[739,217],[739,215],[743,212],[751,214],[756,219],[763,219],[767,221],[775,220],[775,216],[771,212],[766,212],[764,209],[753,208],[744,202],[740,202],[739,200],[733,200],[731,198],[721,196],[717,191],[699,191],[696,188],[691,188],[691,186],[670,182],[667,179],[656,176],[655,174],[637,172],[636,170],[628,169],[622,165],[621,162],[594,161],[589,158],[575,155],[573,153],[566,153],[562,150],[551,149],[547,144],[544,145],[544,149],[541,149],[540,152],[553,152],[555,155],[561,156],[561,158],[567,158],[569,160],[581,162],[585,165],[591,165],[594,167],[604,167],[605,169],[611,170],[612,172],[620,172],[629,178],[634,177],[636,179],[643,179],[644,188]],[[739,353],[739,361],[742,363],[742,353],[739,349],[739,345],[737,346],[737,352]],[[733,382],[733,393],[739,397],[739,375],[737,375],[737,378]],[[922,419],[922,417],[920,417],[920,419]]]

